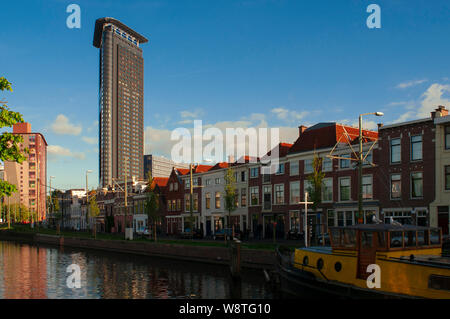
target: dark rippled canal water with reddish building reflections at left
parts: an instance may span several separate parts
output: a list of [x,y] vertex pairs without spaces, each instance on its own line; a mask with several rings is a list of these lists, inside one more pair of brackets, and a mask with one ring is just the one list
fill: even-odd
[[[80,267],[69,288],[67,267]],[[261,270],[241,282],[225,266],[0,241],[0,298],[277,298]]]

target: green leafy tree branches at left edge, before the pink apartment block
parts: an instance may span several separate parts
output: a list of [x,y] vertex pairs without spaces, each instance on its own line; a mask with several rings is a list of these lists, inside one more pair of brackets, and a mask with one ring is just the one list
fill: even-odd
[[[5,90],[12,92],[12,85],[6,78],[0,77],[0,91]],[[11,111],[6,103],[6,101],[0,101],[0,128],[12,127],[16,123],[23,123],[22,114]],[[20,151],[20,143],[22,142],[22,136],[3,132],[0,135],[0,160],[2,162],[9,161],[22,164],[26,160],[24,153],[28,153],[28,149],[25,149],[24,153]],[[4,196],[9,197],[14,192],[17,192],[16,185],[0,180],[0,198]]]

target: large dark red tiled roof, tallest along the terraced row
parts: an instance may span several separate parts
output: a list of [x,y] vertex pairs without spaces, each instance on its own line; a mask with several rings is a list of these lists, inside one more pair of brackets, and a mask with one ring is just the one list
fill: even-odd
[[[306,129],[294,145],[289,149],[289,154],[313,151],[315,149],[334,147],[336,143],[347,143],[348,134],[352,144],[358,143],[359,129],[339,123],[318,123]],[[375,141],[378,133],[363,130],[364,142]]]

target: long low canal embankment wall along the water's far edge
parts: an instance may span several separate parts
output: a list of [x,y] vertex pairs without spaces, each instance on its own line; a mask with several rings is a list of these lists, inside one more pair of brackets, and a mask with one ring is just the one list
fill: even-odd
[[[223,265],[230,265],[231,255],[230,249],[226,247],[63,237],[13,231],[0,231],[0,240],[95,249]],[[273,269],[275,262],[276,258],[273,251],[241,249],[241,265],[244,268]]]

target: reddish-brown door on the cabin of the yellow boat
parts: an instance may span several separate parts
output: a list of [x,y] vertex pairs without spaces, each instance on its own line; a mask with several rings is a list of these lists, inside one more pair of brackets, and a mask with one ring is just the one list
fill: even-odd
[[367,279],[369,273],[367,266],[375,264],[376,261],[376,247],[375,247],[375,233],[371,231],[360,231],[358,234],[358,269],[357,278]]

